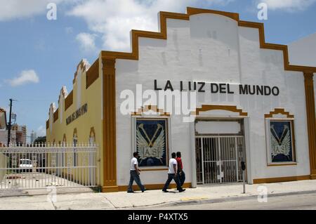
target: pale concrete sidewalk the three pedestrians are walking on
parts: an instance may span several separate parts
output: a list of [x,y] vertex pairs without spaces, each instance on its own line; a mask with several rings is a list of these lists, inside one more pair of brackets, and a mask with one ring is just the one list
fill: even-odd
[[[316,192],[316,180],[301,180],[284,183],[246,185],[246,194],[242,194],[242,184],[208,185],[187,188],[185,192],[169,190],[148,190],[135,193],[81,192],[72,194],[34,195],[18,197],[0,197],[0,209],[133,209],[136,207],[163,204],[225,202],[246,197],[256,197],[262,191],[259,186],[267,187],[268,197]],[[135,187],[136,189],[136,187]]]

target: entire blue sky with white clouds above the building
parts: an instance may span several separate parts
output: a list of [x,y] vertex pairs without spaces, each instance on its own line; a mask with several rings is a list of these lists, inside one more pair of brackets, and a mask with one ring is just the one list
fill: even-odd
[[[48,20],[48,3],[57,20]],[[258,20],[258,3],[268,20]],[[316,0],[0,0],[0,107],[16,99],[17,123],[45,134],[48,107],[60,88],[72,90],[81,58],[91,64],[100,50],[129,51],[129,30],[157,31],[157,13],[185,13],[186,6],[239,13],[264,22],[265,39],[289,44],[316,32]]]

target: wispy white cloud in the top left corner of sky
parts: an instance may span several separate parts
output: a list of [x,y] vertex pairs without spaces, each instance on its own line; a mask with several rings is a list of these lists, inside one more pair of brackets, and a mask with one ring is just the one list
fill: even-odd
[[59,4],[62,1],[65,0],[0,0],[0,21],[29,18],[47,13],[48,3]]

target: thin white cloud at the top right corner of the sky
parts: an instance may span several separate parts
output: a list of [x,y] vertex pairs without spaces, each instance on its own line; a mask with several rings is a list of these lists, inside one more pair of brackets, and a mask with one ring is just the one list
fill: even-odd
[[258,0],[257,3],[264,2],[268,9],[285,11],[304,11],[314,4],[316,0]]

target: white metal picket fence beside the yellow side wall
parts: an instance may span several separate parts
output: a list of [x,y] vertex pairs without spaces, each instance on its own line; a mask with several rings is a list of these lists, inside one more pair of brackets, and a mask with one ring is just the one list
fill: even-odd
[[96,187],[96,153],[92,144],[0,147],[0,190]]

